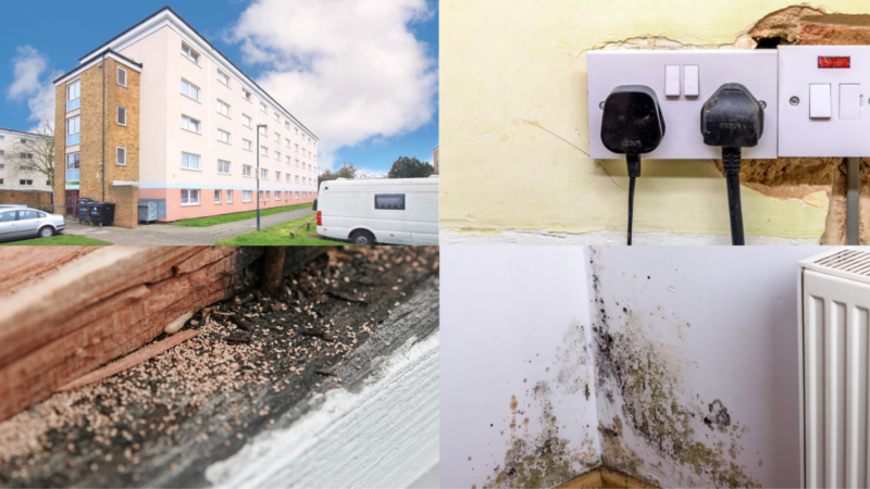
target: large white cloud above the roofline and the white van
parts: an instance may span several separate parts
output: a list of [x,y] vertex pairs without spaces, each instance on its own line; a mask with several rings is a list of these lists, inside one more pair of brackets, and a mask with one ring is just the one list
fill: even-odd
[[229,30],[258,83],[320,138],[319,163],[432,121],[437,60],[410,26],[425,0],[256,0]]

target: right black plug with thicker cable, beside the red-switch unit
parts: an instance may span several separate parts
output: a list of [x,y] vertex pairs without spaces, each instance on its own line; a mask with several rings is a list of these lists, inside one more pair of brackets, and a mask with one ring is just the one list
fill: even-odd
[[745,244],[741,209],[741,148],[758,145],[765,133],[765,112],[741,84],[725,84],[700,110],[700,133],[707,146],[722,147],[722,170],[728,181],[732,244]]

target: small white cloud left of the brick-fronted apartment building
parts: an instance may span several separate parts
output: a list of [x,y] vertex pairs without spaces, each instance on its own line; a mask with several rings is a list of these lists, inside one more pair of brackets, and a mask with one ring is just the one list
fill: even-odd
[[7,97],[17,101],[27,100],[29,121],[54,118],[54,85],[51,80],[60,72],[47,73],[48,58],[33,46],[20,46],[15,50],[17,55],[12,59],[13,80]]

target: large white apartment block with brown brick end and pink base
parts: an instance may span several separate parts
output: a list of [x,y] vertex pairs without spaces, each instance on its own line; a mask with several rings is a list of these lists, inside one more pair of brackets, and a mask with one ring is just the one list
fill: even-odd
[[170,8],[54,85],[67,215],[104,200],[115,225],[135,227],[140,202],[170,222],[316,198],[318,137]]

